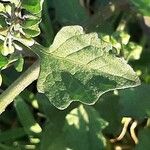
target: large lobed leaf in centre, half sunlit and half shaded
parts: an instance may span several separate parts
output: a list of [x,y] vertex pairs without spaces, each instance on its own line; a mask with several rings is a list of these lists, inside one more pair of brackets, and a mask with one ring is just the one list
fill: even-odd
[[140,84],[126,61],[109,53],[111,45],[80,26],[62,28],[49,49],[36,44],[32,49],[41,63],[38,91],[59,109],[72,101],[94,104],[110,90]]

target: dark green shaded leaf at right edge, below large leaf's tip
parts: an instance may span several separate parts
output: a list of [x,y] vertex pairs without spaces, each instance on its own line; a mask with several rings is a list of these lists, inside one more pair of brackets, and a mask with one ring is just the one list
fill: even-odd
[[150,85],[120,91],[121,115],[134,119],[150,117]]

